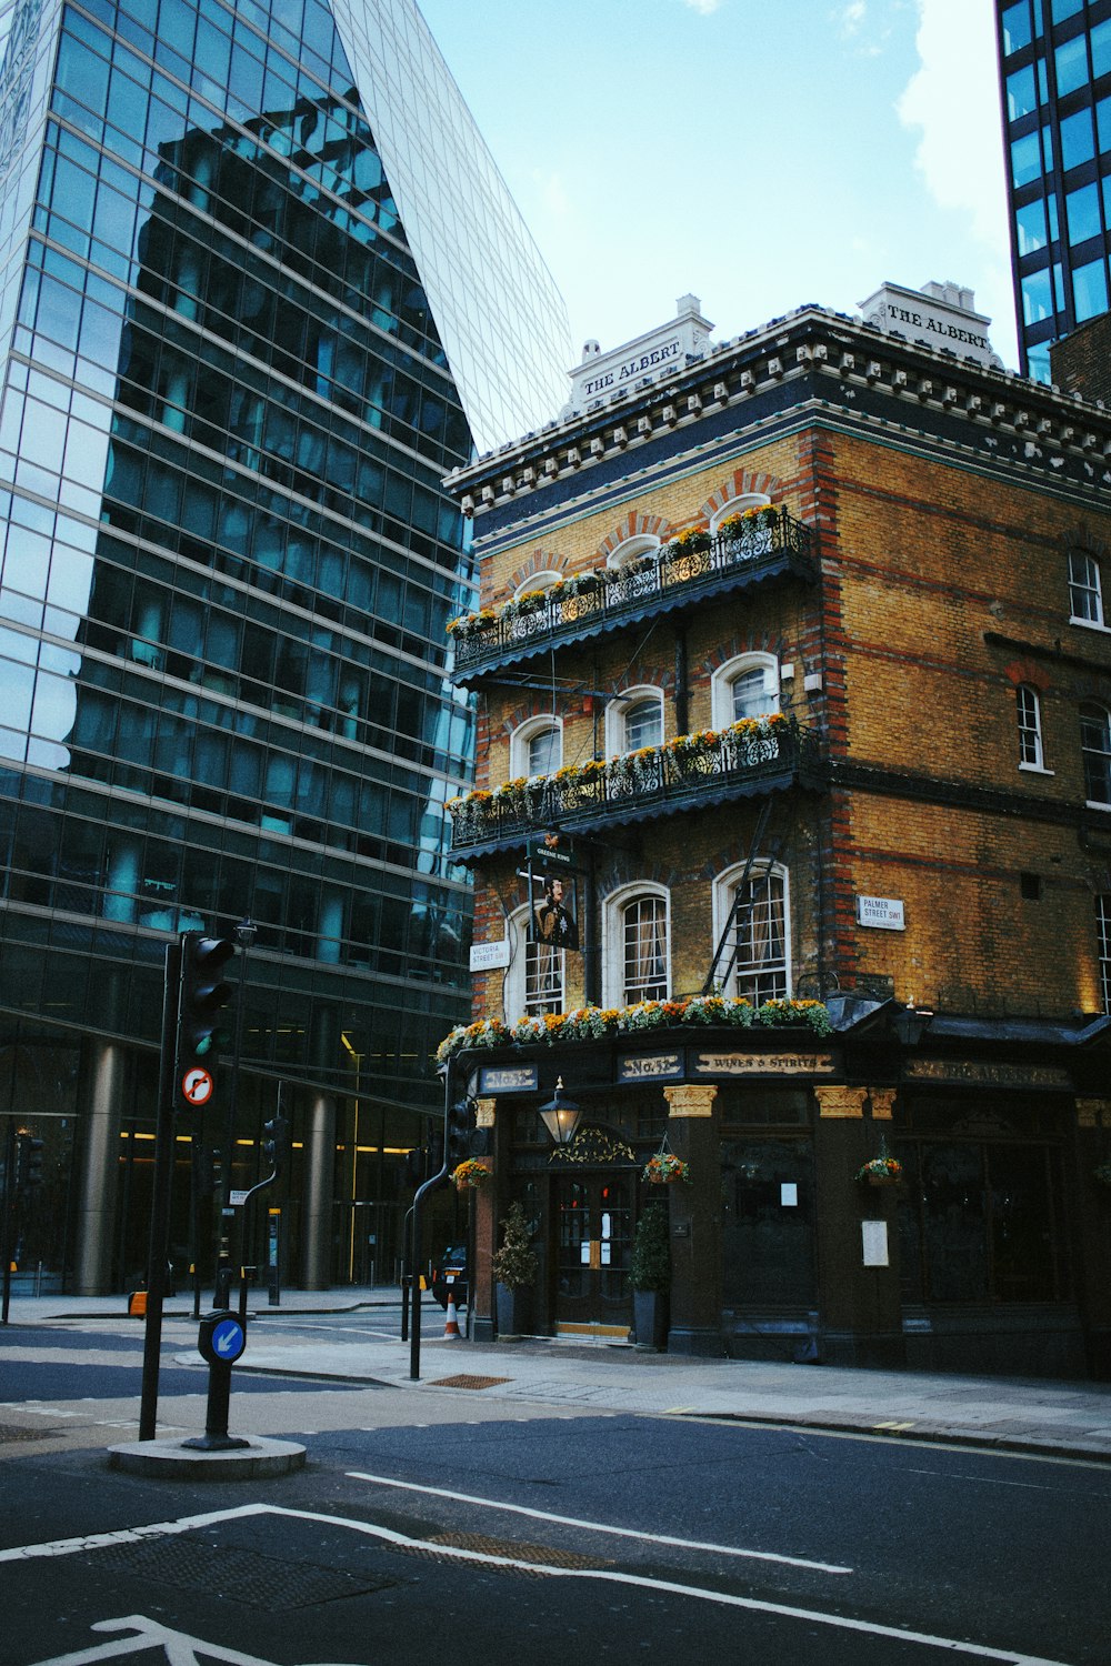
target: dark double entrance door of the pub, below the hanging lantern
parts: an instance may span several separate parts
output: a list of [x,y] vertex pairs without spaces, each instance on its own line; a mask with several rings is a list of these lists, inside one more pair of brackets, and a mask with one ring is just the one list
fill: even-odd
[[633,1323],[633,1170],[556,1180],[558,1333],[625,1334]]

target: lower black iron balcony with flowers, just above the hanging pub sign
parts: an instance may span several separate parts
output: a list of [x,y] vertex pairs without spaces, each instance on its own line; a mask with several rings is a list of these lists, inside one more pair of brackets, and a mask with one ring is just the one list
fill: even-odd
[[680,735],[608,763],[506,781],[495,793],[466,793],[448,805],[451,850],[478,858],[550,830],[620,826],[795,785],[821,790],[823,756],[816,731],[800,728],[795,718],[743,718],[728,730]]

